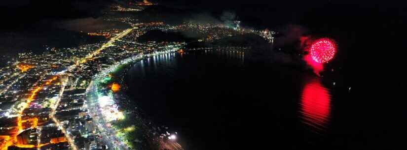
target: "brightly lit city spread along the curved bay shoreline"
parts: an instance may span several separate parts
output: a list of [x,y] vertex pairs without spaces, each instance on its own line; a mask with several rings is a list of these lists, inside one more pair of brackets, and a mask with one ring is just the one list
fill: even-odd
[[[0,149],[1,150],[139,150],[141,143],[133,137],[138,125],[120,125],[128,115],[117,103],[114,94],[120,84],[114,72],[123,65],[158,55],[212,47],[188,48],[187,42],[138,41],[148,31],[194,32],[196,42],[213,42],[224,37],[256,34],[274,41],[271,30],[253,30],[223,24],[185,22],[169,25],[145,22],[115,13],[138,13],[150,5],[148,1],[129,6],[113,5],[108,22],[121,22],[129,29],[105,29],[88,32],[103,36],[95,44],[70,48],[49,48],[47,53],[21,53],[0,68]],[[239,52],[249,47],[222,47],[219,50]],[[161,149],[183,150],[176,134],[150,137]],[[158,140],[157,140],[158,139]]]

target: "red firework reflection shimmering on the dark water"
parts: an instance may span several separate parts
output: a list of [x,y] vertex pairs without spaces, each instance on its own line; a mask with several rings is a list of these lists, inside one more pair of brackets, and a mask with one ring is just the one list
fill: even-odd
[[305,85],[300,105],[305,124],[318,130],[326,128],[331,112],[331,94],[319,80],[311,80]]

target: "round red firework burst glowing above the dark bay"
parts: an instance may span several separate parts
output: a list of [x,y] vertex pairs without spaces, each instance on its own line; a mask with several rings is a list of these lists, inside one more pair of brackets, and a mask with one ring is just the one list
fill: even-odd
[[332,39],[320,38],[311,45],[312,60],[318,63],[325,63],[333,59],[336,53],[336,45]]

